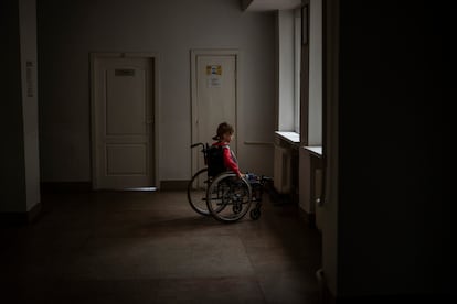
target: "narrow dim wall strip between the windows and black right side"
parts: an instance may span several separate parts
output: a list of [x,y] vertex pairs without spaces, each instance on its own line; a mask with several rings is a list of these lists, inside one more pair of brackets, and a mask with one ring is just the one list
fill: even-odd
[[327,50],[323,54],[326,61],[325,84],[326,102],[326,141],[325,153],[325,188],[322,213],[322,270],[326,287],[333,296],[338,296],[338,225],[339,225],[339,3],[340,0],[328,2],[322,14],[326,15],[326,32],[323,39]]

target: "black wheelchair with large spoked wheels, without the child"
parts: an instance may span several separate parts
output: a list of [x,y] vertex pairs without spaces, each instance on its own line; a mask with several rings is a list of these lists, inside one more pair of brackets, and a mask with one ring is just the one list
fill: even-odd
[[188,200],[192,209],[222,222],[237,221],[248,211],[253,220],[258,219],[264,185],[270,178],[252,173],[246,173],[245,177],[238,178],[232,171],[214,170],[221,164],[214,163],[214,160],[209,156],[212,148],[208,143],[191,145],[191,148],[195,146],[202,146],[205,167],[193,174],[188,184]]

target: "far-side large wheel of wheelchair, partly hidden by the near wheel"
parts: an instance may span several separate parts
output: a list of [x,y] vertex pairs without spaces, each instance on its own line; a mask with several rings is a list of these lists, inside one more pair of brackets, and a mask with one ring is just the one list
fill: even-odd
[[206,206],[208,167],[198,171],[188,184],[188,200],[195,213],[208,216]]

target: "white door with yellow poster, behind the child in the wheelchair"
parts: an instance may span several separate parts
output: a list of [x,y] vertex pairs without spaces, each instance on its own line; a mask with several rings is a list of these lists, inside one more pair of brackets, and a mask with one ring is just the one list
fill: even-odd
[[[193,89],[192,143],[212,143],[219,123],[226,121],[236,131],[236,54],[194,54],[196,79]],[[231,148],[236,153],[236,134]],[[193,172],[203,167],[201,153],[194,156]]]

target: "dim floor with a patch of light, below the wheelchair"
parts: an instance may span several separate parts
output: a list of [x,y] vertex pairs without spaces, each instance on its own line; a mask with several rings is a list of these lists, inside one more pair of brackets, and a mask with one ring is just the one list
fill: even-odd
[[0,228],[0,303],[309,303],[320,235],[264,194],[222,224],[184,192],[46,194],[43,216]]

